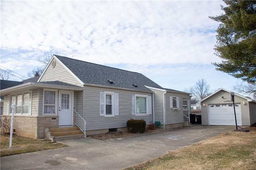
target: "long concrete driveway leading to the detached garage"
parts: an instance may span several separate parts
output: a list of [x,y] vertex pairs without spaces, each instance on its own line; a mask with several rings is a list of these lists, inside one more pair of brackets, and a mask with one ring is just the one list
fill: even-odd
[[70,147],[0,158],[1,170],[120,170],[187,145],[232,131],[235,126],[194,125],[161,133],[99,141],[61,141]]

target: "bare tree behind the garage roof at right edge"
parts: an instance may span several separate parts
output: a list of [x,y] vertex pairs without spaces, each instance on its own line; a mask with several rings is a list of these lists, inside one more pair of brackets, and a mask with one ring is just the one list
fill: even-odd
[[256,83],[240,83],[236,84],[236,86],[233,87],[233,90],[243,94],[248,95],[250,98],[256,99]]

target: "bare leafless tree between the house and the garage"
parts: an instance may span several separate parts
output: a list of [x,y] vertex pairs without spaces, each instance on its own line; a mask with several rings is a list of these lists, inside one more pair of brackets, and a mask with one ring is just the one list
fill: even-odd
[[207,84],[206,80],[202,78],[196,82],[194,86],[194,96],[195,98],[200,101],[211,94],[210,86]]

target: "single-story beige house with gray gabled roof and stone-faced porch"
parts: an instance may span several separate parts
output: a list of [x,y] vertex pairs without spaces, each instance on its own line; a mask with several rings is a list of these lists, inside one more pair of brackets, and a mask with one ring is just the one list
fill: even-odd
[[32,138],[46,137],[48,128],[80,127],[82,118],[86,134],[126,131],[130,118],[179,127],[190,108],[190,94],[164,89],[140,73],[58,55],[37,82],[6,88],[1,94],[4,116],[10,116],[16,104],[16,134]]

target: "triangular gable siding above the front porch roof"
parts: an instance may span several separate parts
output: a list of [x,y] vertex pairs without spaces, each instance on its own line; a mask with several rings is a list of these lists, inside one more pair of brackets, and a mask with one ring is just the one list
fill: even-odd
[[[79,69],[79,68],[78,68]],[[50,64],[49,67],[44,72],[44,75],[40,79],[40,82],[46,82],[46,81],[58,81],[61,80],[61,82],[74,84],[76,86],[81,86],[82,84],[74,78],[74,76],[66,70],[58,61],[56,61],[56,66],[52,68],[52,65]]]

